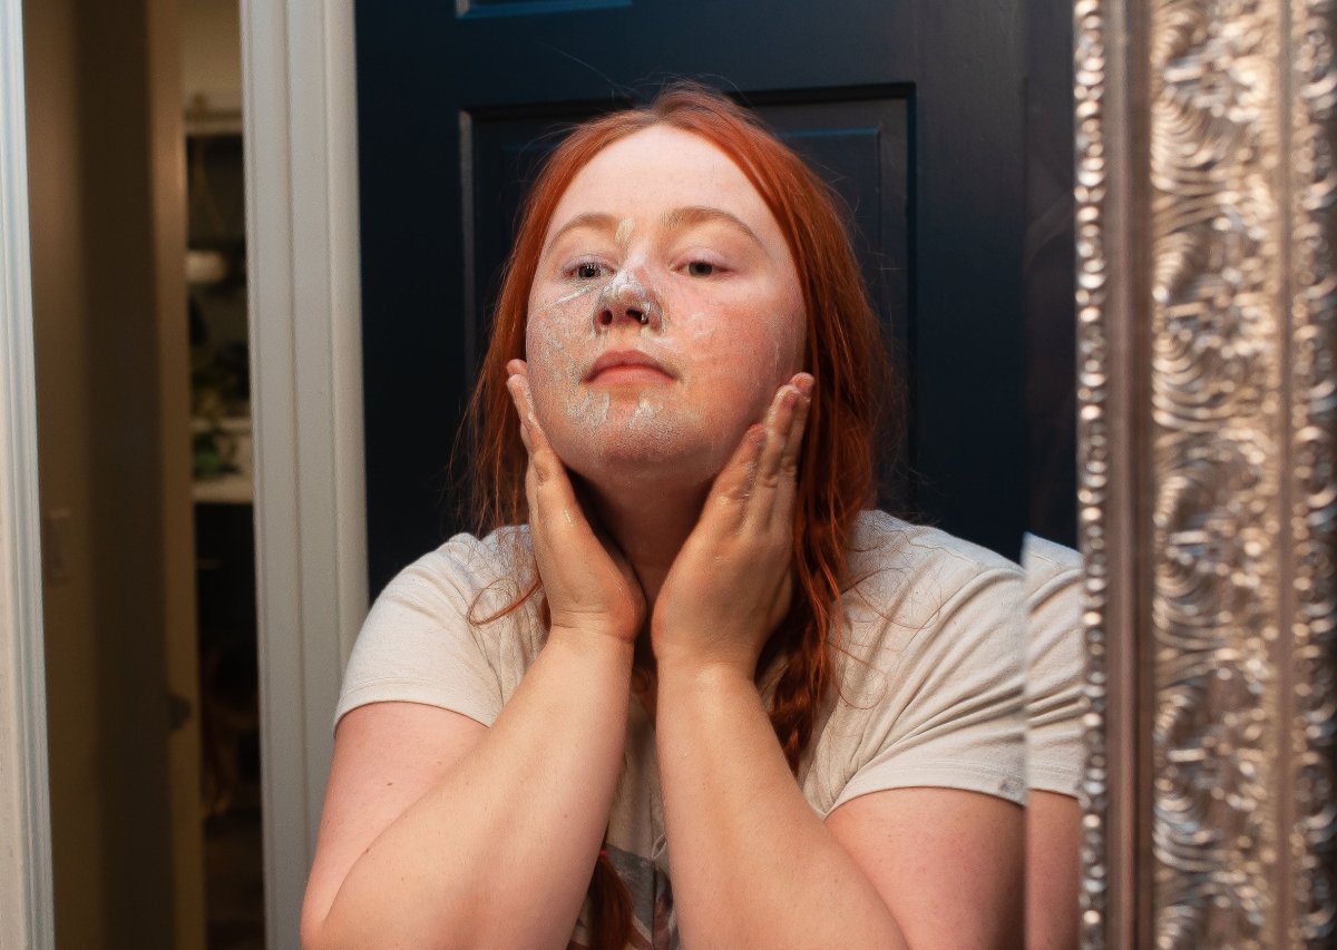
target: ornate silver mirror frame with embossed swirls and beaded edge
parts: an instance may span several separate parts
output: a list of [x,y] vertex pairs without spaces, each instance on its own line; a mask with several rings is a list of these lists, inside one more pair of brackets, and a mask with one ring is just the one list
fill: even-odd
[[1337,942],[1337,5],[1076,0],[1087,947]]

